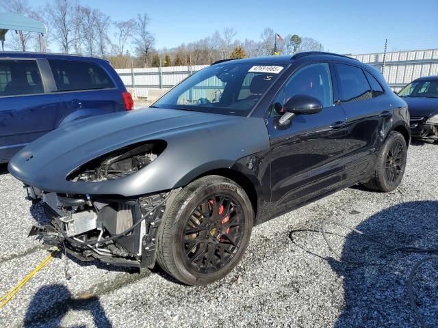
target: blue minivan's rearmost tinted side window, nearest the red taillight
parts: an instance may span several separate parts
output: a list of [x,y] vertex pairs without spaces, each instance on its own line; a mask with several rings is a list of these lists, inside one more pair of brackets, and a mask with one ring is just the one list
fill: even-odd
[[58,91],[93,90],[114,87],[108,74],[86,61],[49,60]]

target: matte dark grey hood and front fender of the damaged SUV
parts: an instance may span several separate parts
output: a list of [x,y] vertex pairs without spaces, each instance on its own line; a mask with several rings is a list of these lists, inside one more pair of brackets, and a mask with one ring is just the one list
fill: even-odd
[[[135,174],[101,182],[71,182],[68,174],[98,156],[142,141],[167,147]],[[57,193],[141,195],[179,187],[205,170],[230,167],[269,149],[262,118],[148,108],[86,118],[58,128],[12,158],[10,173]]]

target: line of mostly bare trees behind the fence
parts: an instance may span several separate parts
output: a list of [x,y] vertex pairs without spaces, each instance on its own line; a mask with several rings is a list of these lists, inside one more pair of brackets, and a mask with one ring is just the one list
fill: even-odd
[[281,38],[268,27],[259,40],[239,40],[233,27],[225,27],[195,42],[156,49],[155,36],[149,30],[151,18],[146,13],[129,20],[112,20],[98,8],[71,0],[49,0],[38,8],[27,0],[0,0],[0,7],[34,18],[48,30],[44,36],[10,31],[7,34],[10,49],[49,52],[55,48],[62,53],[102,57],[115,68],[203,65],[221,59],[272,55],[274,51],[291,55],[324,49],[313,38],[296,34]]

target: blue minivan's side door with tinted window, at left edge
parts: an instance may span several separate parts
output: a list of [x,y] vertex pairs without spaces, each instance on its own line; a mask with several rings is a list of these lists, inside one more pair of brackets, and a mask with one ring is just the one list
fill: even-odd
[[60,96],[49,93],[44,59],[0,59],[0,162],[44,133],[63,115]]

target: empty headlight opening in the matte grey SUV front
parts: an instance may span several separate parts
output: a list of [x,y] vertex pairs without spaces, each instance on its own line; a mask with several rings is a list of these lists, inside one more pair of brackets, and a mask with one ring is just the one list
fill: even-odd
[[154,161],[166,146],[166,141],[155,140],[114,150],[81,165],[68,174],[67,180],[97,182],[129,176]]

